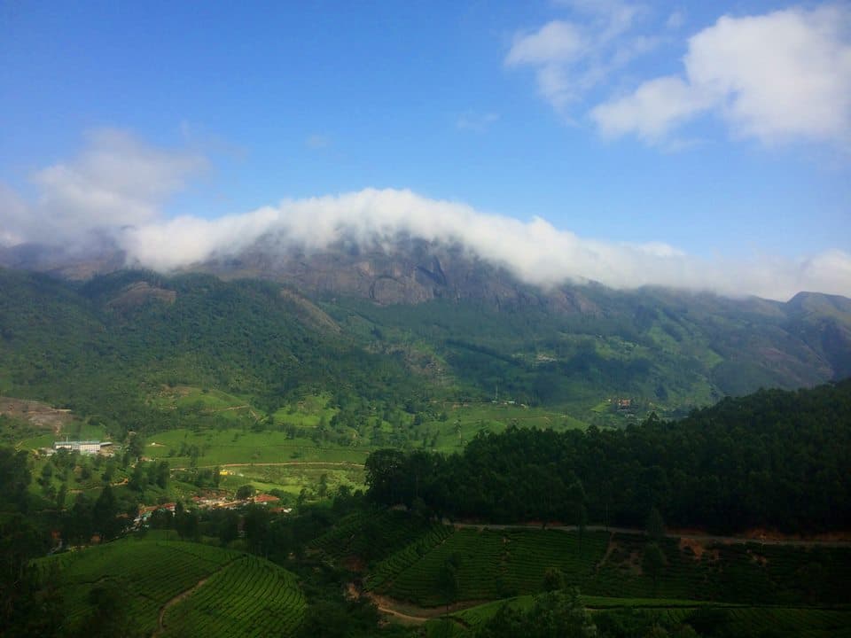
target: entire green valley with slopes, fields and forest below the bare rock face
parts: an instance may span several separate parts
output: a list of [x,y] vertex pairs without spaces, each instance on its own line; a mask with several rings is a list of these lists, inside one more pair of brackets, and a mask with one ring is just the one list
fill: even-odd
[[30,633],[847,634],[844,300],[0,277]]

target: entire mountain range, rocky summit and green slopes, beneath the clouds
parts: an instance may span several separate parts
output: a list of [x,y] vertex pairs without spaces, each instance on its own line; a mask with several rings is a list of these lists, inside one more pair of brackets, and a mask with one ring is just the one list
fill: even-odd
[[[269,239],[170,276],[116,268],[109,251],[63,261],[29,246],[0,259],[11,253],[62,278],[0,271],[0,390],[54,403],[88,395],[89,411],[104,401],[62,378],[98,377],[95,388],[120,374],[144,392],[177,380],[269,408],[331,388],[409,406],[411,395],[496,395],[611,423],[851,375],[851,300],[815,292],[784,303],[593,282],[543,289],[462,245],[412,237],[321,251]],[[66,281],[85,272],[106,274]]]

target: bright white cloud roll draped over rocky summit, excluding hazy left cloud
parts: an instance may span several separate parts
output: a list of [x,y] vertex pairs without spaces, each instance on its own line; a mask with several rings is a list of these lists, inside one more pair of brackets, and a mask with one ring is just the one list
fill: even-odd
[[213,254],[237,254],[259,239],[281,251],[292,245],[318,251],[342,239],[391,245],[399,233],[460,243],[542,286],[595,280],[616,288],[662,285],[781,300],[801,290],[851,295],[851,254],[840,251],[801,260],[707,261],[660,242],[577,237],[540,218],[521,222],[391,189],[287,200],[217,220],[181,217],[125,230],[119,240],[138,263],[168,270]]

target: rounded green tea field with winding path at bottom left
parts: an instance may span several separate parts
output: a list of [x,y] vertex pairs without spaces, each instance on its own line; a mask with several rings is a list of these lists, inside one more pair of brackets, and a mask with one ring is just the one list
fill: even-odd
[[158,628],[163,609],[165,635],[268,635],[271,626],[290,635],[304,613],[291,573],[256,556],[198,543],[127,538],[36,564],[45,577],[58,569],[68,634],[97,613],[91,597],[102,589],[113,592],[125,622],[144,635]]

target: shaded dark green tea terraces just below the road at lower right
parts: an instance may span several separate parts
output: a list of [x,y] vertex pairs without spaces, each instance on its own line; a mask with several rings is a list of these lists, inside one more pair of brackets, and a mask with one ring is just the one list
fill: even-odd
[[558,568],[567,585],[585,595],[714,601],[745,605],[851,603],[851,549],[770,546],[759,543],[681,545],[660,542],[664,564],[655,578],[644,572],[646,539],[640,534],[557,530],[431,532],[370,570],[368,589],[422,606],[448,601],[441,570],[453,564],[454,600],[483,601],[533,594],[544,573]]

